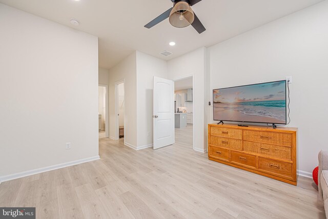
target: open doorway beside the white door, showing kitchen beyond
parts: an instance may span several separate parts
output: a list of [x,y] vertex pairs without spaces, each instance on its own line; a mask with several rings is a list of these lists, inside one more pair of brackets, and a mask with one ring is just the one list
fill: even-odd
[[175,142],[188,142],[188,147],[193,145],[194,122],[194,79],[193,75],[176,79],[174,81],[174,127]]

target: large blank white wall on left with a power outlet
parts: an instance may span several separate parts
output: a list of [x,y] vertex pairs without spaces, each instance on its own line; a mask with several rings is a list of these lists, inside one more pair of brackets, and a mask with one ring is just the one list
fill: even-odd
[[0,27],[0,177],[98,156],[97,37],[3,4]]

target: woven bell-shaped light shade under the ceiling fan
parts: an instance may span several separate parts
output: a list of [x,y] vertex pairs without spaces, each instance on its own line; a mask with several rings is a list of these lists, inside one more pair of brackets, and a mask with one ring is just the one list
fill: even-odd
[[178,2],[169,17],[170,24],[177,28],[188,27],[194,22],[195,15],[187,2]]

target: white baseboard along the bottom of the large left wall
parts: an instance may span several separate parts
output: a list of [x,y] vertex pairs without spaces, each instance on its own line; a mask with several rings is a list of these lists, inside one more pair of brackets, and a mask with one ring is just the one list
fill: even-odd
[[92,156],[92,157],[84,158],[84,159],[77,160],[77,161],[67,162],[64,164],[57,164],[57,165],[53,165],[53,166],[49,166],[49,167],[43,167],[43,168],[28,170],[28,171],[24,171],[24,172],[20,172],[20,173],[4,175],[4,176],[0,176],[0,183],[10,181],[10,180],[15,180],[16,178],[22,178],[22,177],[29,176],[29,175],[34,175],[34,174],[43,173],[43,172],[47,172],[47,171],[51,171],[51,170],[56,170],[56,169],[60,169],[60,168],[64,168],[64,167],[74,166],[77,164],[82,164],[82,163],[86,163],[86,162],[90,162],[90,161],[96,161],[99,159],[100,159],[99,155]]

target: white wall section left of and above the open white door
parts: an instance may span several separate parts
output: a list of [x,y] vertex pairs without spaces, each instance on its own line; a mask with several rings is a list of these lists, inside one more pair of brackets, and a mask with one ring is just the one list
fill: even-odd
[[153,78],[168,78],[167,62],[137,54],[137,149],[153,146]]

